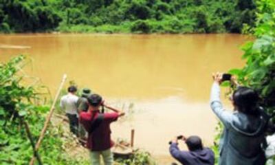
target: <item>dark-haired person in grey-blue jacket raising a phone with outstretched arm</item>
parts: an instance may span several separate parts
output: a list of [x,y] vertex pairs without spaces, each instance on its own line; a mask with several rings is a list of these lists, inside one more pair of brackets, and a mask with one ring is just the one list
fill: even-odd
[[[223,74],[213,74],[210,107],[223,123],[219,146],[221,165],[264,165],[267,115],[259,107],[259,96],[248,87],[238,87],[232,94],[234,112],[225,111],[220,99]],[[234,77],[230,78],[236,84]]]

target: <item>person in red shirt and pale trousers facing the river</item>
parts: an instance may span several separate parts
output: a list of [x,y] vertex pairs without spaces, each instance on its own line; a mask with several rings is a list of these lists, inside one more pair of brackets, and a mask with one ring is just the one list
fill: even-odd
[[[125,113],[104,104],[102,97],[98,94],[92,94],[87,99],[89,109],[87,112],[80,113],[79,122],[83,124],[85,130],[89,133],[86,146],[90,151],[91,164],[100,165],[100,155],[102,155],[104,164],[111,165],[113,164],[111,147],[114,142],[111,140],[110,124]],[[113,112],[100,113],[100,106]]]

